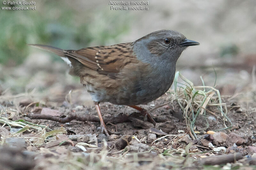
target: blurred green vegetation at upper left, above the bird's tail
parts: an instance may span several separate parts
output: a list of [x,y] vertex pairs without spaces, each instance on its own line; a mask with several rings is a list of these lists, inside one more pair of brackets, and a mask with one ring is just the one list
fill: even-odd
[[108,9],[90,13],[90,8],[79,11],[62,1],[36,2],[35,11],[2,10],[0,64],[21,64],[31,48],[26,44],[79,49],[89,46],[95,39],[95,44],[105,45],[109,39],[128,31],[129,18],[125,14],[110,13]]

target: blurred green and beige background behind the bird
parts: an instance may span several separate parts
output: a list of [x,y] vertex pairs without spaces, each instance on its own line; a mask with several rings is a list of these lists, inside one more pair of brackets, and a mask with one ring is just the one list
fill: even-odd
[[[1,7],[24,6],[2,2]],[[185,50],[177,63],[177,70],[195,84],[201,83],[202,75],[206,84],[213,85],[213,66],[223,94],[233,94],[252,81],[255,0],[149,0],[145,11],[110,10],[105,0],[35,2],[28,6],[36,6],[36,10],[0,10],[1,93],[36,89],[53,96],[49,93],[60,95],[82,88],[59,57],[26,44],[80,49],[132,42],[162,29],[179,31],[200,42]]]

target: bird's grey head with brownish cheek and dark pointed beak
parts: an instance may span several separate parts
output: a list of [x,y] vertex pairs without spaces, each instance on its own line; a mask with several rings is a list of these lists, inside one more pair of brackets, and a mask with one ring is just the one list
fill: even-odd
[[161,30],[134,41],[133,50],[143,62],[164,61],[176,64],[182,51],[195,45],[199,43],[186,39],[177,31]]

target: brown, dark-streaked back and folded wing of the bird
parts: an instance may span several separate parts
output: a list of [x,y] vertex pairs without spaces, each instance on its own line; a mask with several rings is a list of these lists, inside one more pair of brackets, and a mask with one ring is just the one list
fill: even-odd
[[65,54],[111,78],[116,78],[114,73],[119,73],[122,67],[136,60],[131,43],[67,50]]

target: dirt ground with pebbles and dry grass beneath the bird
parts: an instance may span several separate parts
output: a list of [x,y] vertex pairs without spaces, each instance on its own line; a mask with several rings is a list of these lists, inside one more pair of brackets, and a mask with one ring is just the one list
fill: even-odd
[[[8,72],[8,69],[3,70]],[[226,116],[232,125],[224,119],[217,105],[207,105],[205,115],[198,115],[195,119],[194,134],[189,127],[191,122],[184,118],[172,88],[157,100],[141,105],[152,115],[156,127],[128,106],[101,103],[103,118],[111,134],[107,138],[101,133],[97,111],[86,90],[67,72],[60,74],[55,71],[27,75],[31,80],[27,81],[30,84],[25,93],[12,88],[1,89],[2,169],[256,167],[255,74],[249,77],[243,91],[221,97],[222,103],[226,103]],[[50,78],[47,77],[49,74]],[[14,78],[19,76],[15,70],[9,75]],[[38,75],[40,78],[35,82]],[[15,82],[18,86],[18,81]],[[33,87],[31,83],[37,87],[36,91],[29,88]],[[216,88],[221,94],[227,93],[227,85]],[[219,100],[214,99],[216,94],[210,103]],[[183,101],[181,97],[180,101]],[[196,110],[196,106],[192,109]],[[225,109],[224,105],[222,109]],[[34,119],[38,115],[44,119]],[[49,120],[52,117],[64,120],[70,115],[76,119],[65,123]],[[187,119],[195,117],[191,112],[187,116]]]

